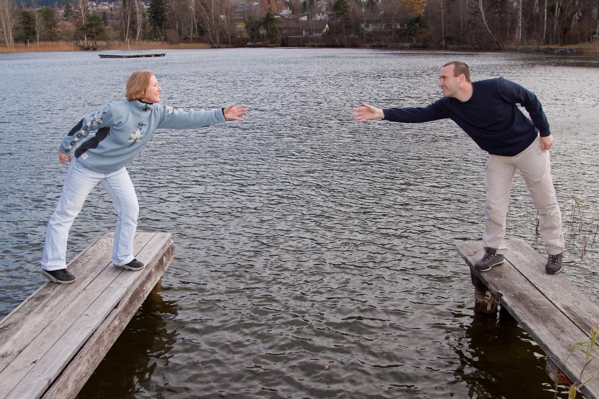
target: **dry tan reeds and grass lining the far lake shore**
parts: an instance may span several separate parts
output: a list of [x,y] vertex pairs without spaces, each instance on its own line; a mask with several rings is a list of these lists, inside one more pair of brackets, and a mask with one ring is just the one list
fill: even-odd
[[[158,42],[158,41],[147,41],[147,42],[138,42],[137,44],[129,44],[129,46],[125,42],[114,42],[114,41],[98,41],[96,48],[98,50],[120,50],[120,51],[138,51],[138,50],[177,50],[177,49],[186,49],[186,48],[210,48],[211,46],[207,43],[178,43],[171,44],[168,42]],[[225,46],[226,48],[227,46]],[[243,46],[245,47],[245,46]],[[252,46],[254,47],[254,46]],[[264,45],[259,47],[279,47],[278,45]],[[316,47],[316,46],[289,46],[289,47]],[[374,47],[372,45],[363,45],[361,48],[370,48]],[[520,49],[524,48],[575,48],[577,49],[578,54],[583,55],[598,55],[599,54],[599,41],[582,43],[576,45],[544,45],[544,46],[518,46],[513,47],[512,49]],[[386,47],[385,47],[386,48]],[[485,49],[474,49],[470,47],[461,47],[452,45],[447,48],[439,48],[439,47],[413,47],[413,49],[417,50],[463,50],[463,51],[488,51]],[[13,44],[12,46],[8,46],[6,44],[0,44],[0,53],[27,53],[27,52],[38,52],[38,51],[80,51],[81,47],[75,45],[74,43],[68,42],[37,42],[30,44]],[[401,50],[407,50],[407,48],[401,48]],[[501,51],[501,50],[495,50]],[[504,50],[507,51],[507,50]]]

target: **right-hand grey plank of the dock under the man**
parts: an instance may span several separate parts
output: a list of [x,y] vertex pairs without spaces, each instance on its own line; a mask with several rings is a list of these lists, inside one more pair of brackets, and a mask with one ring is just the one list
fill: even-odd
[[564,273],[545,273],[546,258],[523,240],[507,240],[506,246],[506,259],[517,264],[518,271],[583,333],[589,334],[593,325],[599,326],[599,304],[580,291]]

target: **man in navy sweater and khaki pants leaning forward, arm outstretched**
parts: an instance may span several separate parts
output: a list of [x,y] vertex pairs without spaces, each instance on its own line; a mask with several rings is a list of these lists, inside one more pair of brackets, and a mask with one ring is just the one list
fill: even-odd
[[[561,272],[564,236],[548,152],[553,137],[539,99],[504,78],[471,82],[468,65],[460,61],[443,65],[438,87],[443,90],[443,98],[424,108],[380,109],[362,103],[362,108],[353,109],[352,116],[360,122],[380,118],[404,123],[450,118],[489,153],[485,171],[485,255],[474,265],[480,272],[503,264],[507,205],[519,169],[539,210],[539,232],[549,254],[545,271]],[[517,103],[524,106],[530,119]]]

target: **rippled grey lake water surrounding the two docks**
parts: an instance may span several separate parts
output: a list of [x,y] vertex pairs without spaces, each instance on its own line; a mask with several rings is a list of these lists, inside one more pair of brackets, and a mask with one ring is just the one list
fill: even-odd
[[[361,102],[428,105],[438,70],[503,76],[539,96],[555,136],[564,273],[599,300],[599,243],[572,230],[572,198],[597,221],[599,60],[368,49],[167,50],[163,58],[0,54],[0,317],[45,281],[39,261],[66,166],[56,150],[88,112],[151,69],[162,102],[234,102],[243,123],[158,130],[128,167],[138,229],[176,257],[80,398],[551,398],[544,354],[506,314],[473,316],[486,153],[451,121],[357,123]],[[508,237],[544,255],[518,174]],[[98,187],[72,258],[116,216]],[[328,368],[325,368],[328,366]]]

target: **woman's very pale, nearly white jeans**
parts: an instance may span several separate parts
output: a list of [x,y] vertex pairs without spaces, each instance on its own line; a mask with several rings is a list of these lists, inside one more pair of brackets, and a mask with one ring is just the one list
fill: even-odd
[[112,262],[120,266],[134,259],[133,238],[140,208],[129,173],[125,167],[112,173],[93,172],[73,159],[66,172],[65,185],[56,211],[50,218],[46,230],[44,255],[41,260],[41,267],[44,270],[66,267],[66,240],[69,230],[73,220],[81,211],[87,194],[98,182],[110,195],[117,213]]

